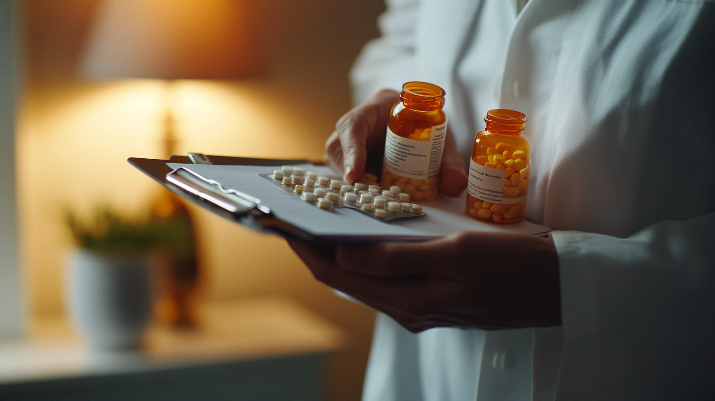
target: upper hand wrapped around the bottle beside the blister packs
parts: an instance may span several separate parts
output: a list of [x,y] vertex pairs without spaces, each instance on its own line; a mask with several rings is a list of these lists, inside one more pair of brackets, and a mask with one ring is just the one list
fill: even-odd
[[[399,100],[398,92],[381,90],[372,99],[340,117],[335,131],[325,142],[325,164],[342,173],[348,183],[360,180],[366,168],[378,173],[383,163],[390,110]],[[440,170],[440,191],[457,196],[466,187],[466,166],[448,127]]]

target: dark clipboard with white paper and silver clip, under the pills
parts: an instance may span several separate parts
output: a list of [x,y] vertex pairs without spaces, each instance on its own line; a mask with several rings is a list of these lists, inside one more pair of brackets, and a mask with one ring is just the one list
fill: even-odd
[[[128,161],[173,193],[202,208],[257,231],[283,237],[345,243],[428,241],[460,230],[508,231],[536,236],[548,236],[551,231],[549,227],[526,220],[510,226],[475,221],[465,216],[464,200],[461,197],[438,196],[425,204],[429,216],[409,221],[398,219],[389,223],[354,210],[319,211],[307,203],[296,202],[292,196],[285,197],[284,191],[259,176],[259,173],[270,173],[272,168],[280,165],[310,164],[309,160],[235,158],[189,153],[188,157],[172,156],[169,160],[129,158]],[[320,164],[313,164],[316,170],[326,169]],[[264,171],[261,166],[272,168]],[[262,203],[261,198],[268,205]],[[350,212],[354,213],[351,215]]]

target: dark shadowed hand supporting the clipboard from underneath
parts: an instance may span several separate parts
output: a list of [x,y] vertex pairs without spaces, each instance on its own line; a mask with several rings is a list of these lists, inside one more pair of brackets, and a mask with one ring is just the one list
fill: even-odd
[[313,275],[410,332],[561,325],[553,241],[460,232],[434,241],[331,246],[288,240]]

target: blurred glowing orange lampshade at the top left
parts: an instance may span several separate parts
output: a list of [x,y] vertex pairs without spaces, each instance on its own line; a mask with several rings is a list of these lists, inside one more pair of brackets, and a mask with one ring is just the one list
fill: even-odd
[[260,68],[237,0],[105,0],[84,56],[90,77],[235,78]]

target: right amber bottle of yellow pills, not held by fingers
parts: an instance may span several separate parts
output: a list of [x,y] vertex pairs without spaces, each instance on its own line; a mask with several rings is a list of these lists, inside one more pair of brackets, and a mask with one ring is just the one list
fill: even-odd
[[523,135],[526,116],[496,109],[484,122],[469,163],[467,214],[489,223],[518,223],[526,213],[531,164],[531,142]]

